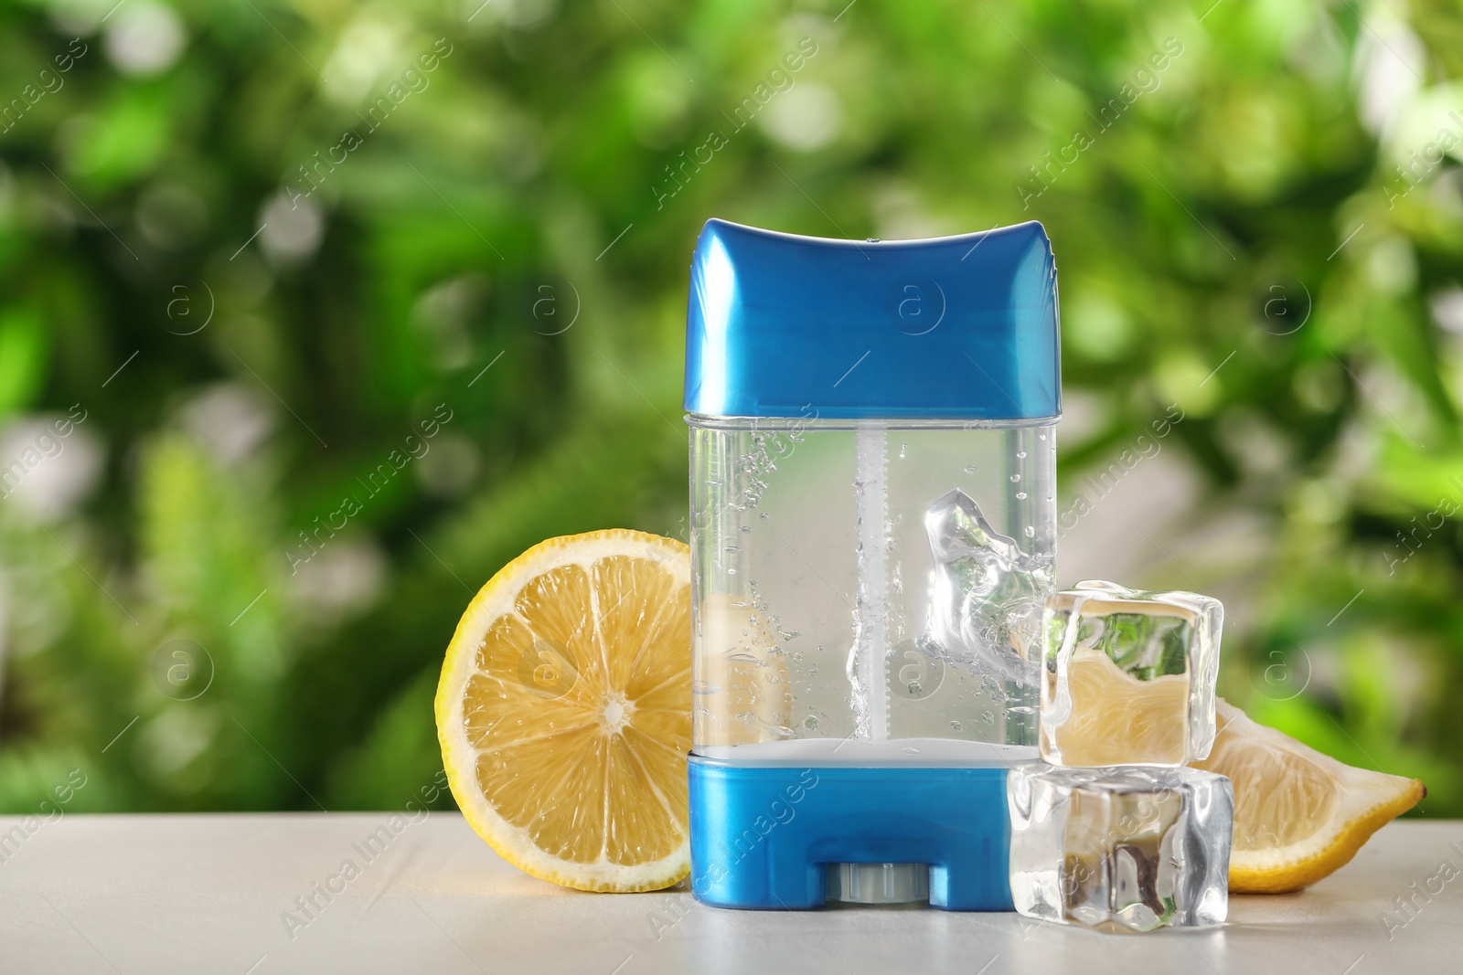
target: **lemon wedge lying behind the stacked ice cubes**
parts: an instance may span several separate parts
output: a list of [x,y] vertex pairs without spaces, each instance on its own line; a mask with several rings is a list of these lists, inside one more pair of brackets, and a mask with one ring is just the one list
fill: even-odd
[[1287,893],[1344,867],[1428,794],[1422,782],[1342,765],[1217,702],[1214,748],[1194,766],[1235,785],[1232,893]]

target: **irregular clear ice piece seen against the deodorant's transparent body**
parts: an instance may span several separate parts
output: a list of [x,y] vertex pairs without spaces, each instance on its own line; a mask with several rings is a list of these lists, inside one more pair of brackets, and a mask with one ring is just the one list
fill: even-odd
[[999,534],[964,491],[925,513],[935,570],[930,637],[983,674],[1027,686],[1036,680],[1031,648],[1042,604],[1052,592],[1052,560],[1028,555]]

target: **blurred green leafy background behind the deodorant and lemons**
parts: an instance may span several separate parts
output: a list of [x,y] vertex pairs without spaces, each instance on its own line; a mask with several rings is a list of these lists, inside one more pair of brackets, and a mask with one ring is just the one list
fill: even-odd
[[1459,7],[846,3],[6,0],[0,811],[417,797],[478,585],[685,536],[714,215],[1043,221],[1064,582],[1463,814]]

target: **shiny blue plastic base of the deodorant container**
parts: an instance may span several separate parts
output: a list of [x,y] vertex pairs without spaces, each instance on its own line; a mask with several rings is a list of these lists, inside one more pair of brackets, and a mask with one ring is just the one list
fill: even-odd
[[1007,770],[739,766],[689,757],[691,892],[819,908],[827,864],[929,864],[929,903],[1011,911]]

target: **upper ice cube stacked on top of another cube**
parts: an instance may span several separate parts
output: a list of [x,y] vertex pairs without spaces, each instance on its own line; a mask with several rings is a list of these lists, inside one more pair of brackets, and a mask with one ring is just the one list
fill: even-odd
[[1194,592],[1080,582],[1046,601],[1042,757],[1186,765],[1214,744],[1225,608]]

